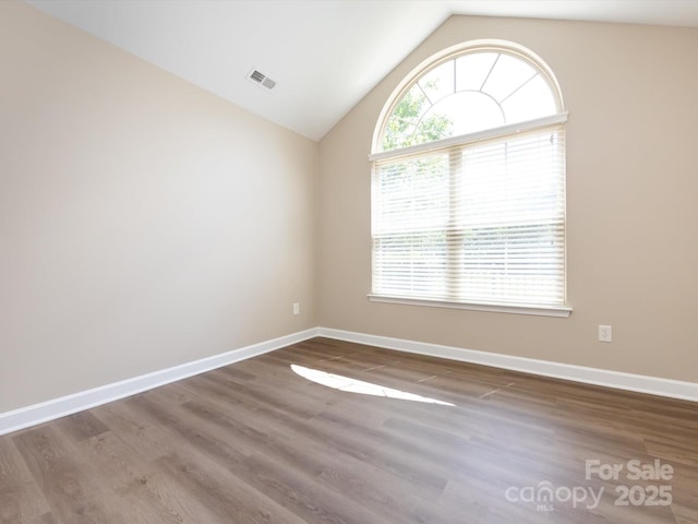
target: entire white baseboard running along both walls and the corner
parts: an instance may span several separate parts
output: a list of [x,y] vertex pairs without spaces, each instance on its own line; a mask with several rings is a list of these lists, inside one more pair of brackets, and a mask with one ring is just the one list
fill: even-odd
[[642,374],[624,373],[605,369],[586,368],[569,364],[535,360],[532,358],[515,357],[496,353],[464,349],[454,346],[442,346],[423,342],[392,338],[387,336],[370,335],[351,331],[314,327],[270,341],[241,347],[221,355],[194,360],[172,368],[163,369],[132,379],[113,382],[72,395],[61,396],[39,404],[22,407],[12,412],[0,413],[0,434],[10,433],[28,428],[37,424],[47,422],[73,413],[89,409],[101,404],[118,401],[127,396],[186,379],[194,374],[212,369],[239,362],[265,353],[280,349],[315,336],[325,336],[338,341],[368,344],[386,349],[416,353],[432,357],[448,358],[464,362],[493,366],[525,373],[554,377],[587,384],[603,385],[618,390],[649,393],[651,395],[667,396],[685,401],[698,402],[698,383],[662,379]]

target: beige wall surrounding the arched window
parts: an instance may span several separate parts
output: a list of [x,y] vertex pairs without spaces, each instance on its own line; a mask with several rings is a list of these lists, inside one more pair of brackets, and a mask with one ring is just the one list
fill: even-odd
[[[569,319],[369,302],[370,168],[380,111],[429,56],[516,41],[566,108]],[[449,19],[321,142],[323,326],[698,381],[698,29]],[[597,325],[612,324],[612,344]]]

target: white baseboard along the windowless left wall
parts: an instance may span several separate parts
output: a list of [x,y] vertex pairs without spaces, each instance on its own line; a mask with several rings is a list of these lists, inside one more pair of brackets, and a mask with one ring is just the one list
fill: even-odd
[[89,409],[108,402],[118,401],[127,396],[152,390],[160,385],[186,379],[194,374],[210,371],[212,369],[239,362],[257,355],[280,349],[317,336],[317,329],[311,329],[281,336],[270,341],[253,344],[251,346],[233,349],[213,357],[202,358],[192,362],[182,364],[172,368],[154,371],[152,373],[133,377],[131,379],[101,385],[92,390],[81,391],[71,395],[61,396],[39,404],[0,413],[0,434],[10,433],[28,428],[37,424],[47,422],[56,418],[72,415],[73,413]]

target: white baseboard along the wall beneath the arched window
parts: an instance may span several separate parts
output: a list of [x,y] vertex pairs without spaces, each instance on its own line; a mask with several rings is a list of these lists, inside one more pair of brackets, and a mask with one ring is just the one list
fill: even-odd
[[432,357],[449,358],[464,362],[480,364],[495,368],[510,369],[525,373],[553,377],[556,379],[571,380],[587,384],[603,385],[617,390],[648,393],[650,395],[667,396],[684,401],[698,402],[698,383],[682,382],[678,380],[648,377],[643,374],[624,373],[606,369],[587,368],[570,364],[535,360],[532,358],[515,357],[497,353],[478,352],[460,347],[442,346],[423,342],[413,342],[402,338],[369,335],[351,331],[317,329],[318,336],[326,336],[338,341],[356,342],[386,349],[429,355]]

